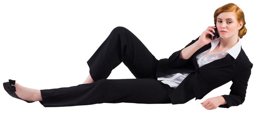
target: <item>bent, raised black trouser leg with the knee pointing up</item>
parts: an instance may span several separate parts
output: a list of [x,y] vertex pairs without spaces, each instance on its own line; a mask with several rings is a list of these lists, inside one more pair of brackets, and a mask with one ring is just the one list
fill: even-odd
[[116,27],[87,61],[93,81],[107,78],[121,62],[136,78],[155,77],[158,60],[125,27]]

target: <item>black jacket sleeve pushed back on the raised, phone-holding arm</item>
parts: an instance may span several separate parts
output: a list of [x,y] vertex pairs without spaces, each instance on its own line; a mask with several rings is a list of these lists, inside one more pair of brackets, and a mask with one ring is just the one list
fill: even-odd
[[[190,46],[192,45],[193,43],[195,43],[198,39],[199,39],[200,36],[198,36],[197,39],[195,40],[192,40],[187,46]],[[184,48],[186,48],[187,46],[185,46]],[[182,49],[184,49],[182,48]],[[182,50],[181,49],[181,50]],[[187,61],[188,59],[181,59],[180,58],[180,52],[181,50],[178,50],[176,52],[174,52],[168,59],[168,66],[170,68],[178,68],[178,67],[181,67],[183,66]]]

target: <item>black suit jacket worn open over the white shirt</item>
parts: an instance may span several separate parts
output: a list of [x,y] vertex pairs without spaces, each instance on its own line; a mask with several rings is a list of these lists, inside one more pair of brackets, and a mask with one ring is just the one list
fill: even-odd
[[[195,43],[199,37],[187,46]],[[184,48],[186,48],[185,46]],[[156,68],[156,77],[175,73],[190,72],[190,74],[169,95],[172,104],[183,104],[196,98],[202,99],[213,89],[220,87],[230,80],[233,82],[229,95],[222,95],[227,104],[221,108],[238,106],[245,100],[247,82],[251,75],[253,64],[249,61],[242,47],[236,59],[227,54],[224,58],[214,60],[198,67],[196,56],[211,47],[211,43],[198,49],[189,59],[179,58],[180,51],[174,52],[168,59],[160,59]],[[183,49],[184,49],[183,48]]]

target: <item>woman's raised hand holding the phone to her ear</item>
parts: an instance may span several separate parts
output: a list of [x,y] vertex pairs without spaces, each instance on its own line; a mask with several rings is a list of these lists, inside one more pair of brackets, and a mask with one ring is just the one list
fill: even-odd
[[198,42],[202,45],[207,45],[210,42],[212,42],[213,40],[215,40],[217,38],[217,36],[214,37],[214,39],[210,39],[209,35],[214,36],[211,31],[213,31],[215,33],[215,26],[208,26],[208,28],[201,34],[201,36],[199,36]]

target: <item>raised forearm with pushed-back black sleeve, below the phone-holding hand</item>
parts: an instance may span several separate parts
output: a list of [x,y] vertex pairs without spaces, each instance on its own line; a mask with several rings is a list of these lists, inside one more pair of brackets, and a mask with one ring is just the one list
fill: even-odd
[[[200,37],[200,36],[199,36]],[[170,68],[177,68],[184,65],[188,59],[203,45],[198,43],[199,37],[195,40],[192,40],[187,46],[182,48],[181,50],[178,50],[174,52],[168,60],[168,66]]]

